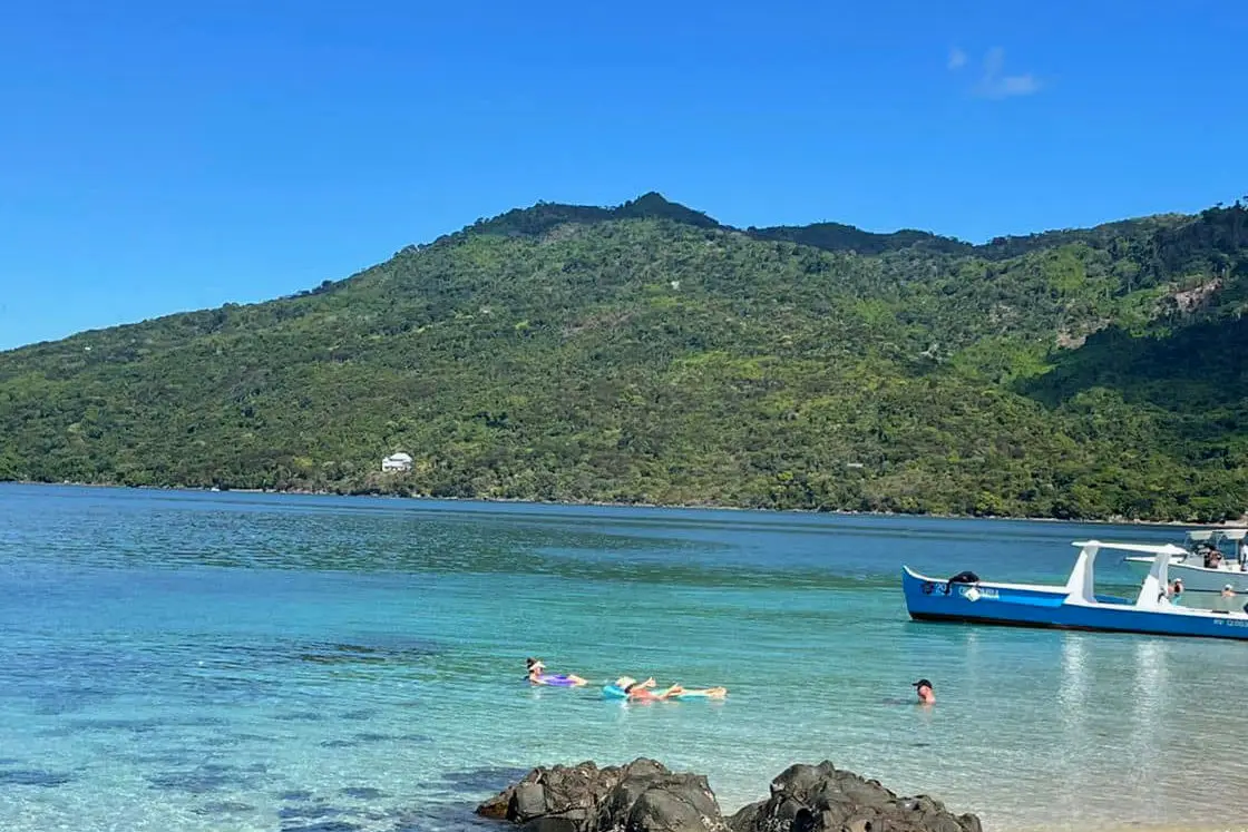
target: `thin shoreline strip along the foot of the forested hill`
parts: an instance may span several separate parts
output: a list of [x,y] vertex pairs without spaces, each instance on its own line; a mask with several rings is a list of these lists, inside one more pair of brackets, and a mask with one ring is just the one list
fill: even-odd
[[[270,489],[270,488],[205,488],[198,485],[125,485],[121,483],[79,483],[72,480],[62,480],[60,483],[51,483],[45,480],[25,480],[25,479],[11,479],[0,480],[0,485],[5,483],[11,483],[14,485],[46,485],[46,486],[61,486],[70,485],[74,488],[112,488],[112,489],[129,489],[129,490],[150,490],[150,491],[177,491],[187,494],[212,494],[212,493],[235,493],[235,494],[280,494],[280,495],[301,495],[301,496],[338,496],[338,498],[363,498],[363,499],[394,499],[394,500],[424,500],[431,503],[479,503],[483,505],[493,504],[518,504],[518,505],[553,505],[553,506],[595,506],[595,508],[609,508],[609,509],[671,509],[671,510],[703,510],[703,511],[763,511],[766,514],[826,514],[835,516],[865,516],[865,518],[931,518],[936,520],[1012,520],[1012,521],[1026,521],[1026,523],[1078,523],[1085,525],[1123,525],[1123,526],[1154,526],[1154,528],[1194,528],[1194,529],[1224,529],[1224,528],[1238,528],[1248,523],[1248,513],[1242,515],[1237,520],[1222,520],[1218,523],[1199,523],[1196,520],[1139,520],[1132,518],[1107,518],[1107,519],[1083,519],[1083,518],[1052,518],[1052,516],[1026,516],[1026,515],[1012,515],[1012,514],[945,514],[936,511],[857,511],[852,509],[768,509],[768,508],[755,508],[755,506],[743,506],[743,505],[725,505],[716,503],[618,503],[612,500],[525,500],[519,498],[508,496],[431,496],[427,494],[397,494],[387,491],[361,491],[361,493],[342,493],[331,491],[324,489],[303,489],[303,488],[288,488],[288,489]],[[1134,828],[1134,827],[1133,827]],[[1151,831],[1146,831],[1151,832]],[[1162,831],[1168,832],[1168,831]],[[1178,831],[1177,831],[1178,832]],[[1234,832],[1241,832],[1236,830]],[[1248,832],[1248,827],[1243,832]]]

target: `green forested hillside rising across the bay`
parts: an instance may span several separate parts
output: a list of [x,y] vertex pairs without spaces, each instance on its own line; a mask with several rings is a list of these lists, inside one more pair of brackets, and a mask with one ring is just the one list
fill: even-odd
[[1246,308],[1239,203],[983,246],[539,203],[0,353],[0,479],[1221,520]]

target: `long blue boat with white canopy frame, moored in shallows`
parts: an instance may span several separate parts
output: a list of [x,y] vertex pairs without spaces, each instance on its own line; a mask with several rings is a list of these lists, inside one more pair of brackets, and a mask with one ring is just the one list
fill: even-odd
[[[1202,610],[1171,602],[1166,591],[1171,559],[1182,555],[1183,549],[1172,544],[1098,540],[1072,545],[1080,548],[1080,555],[1065,586],[981,581],[973,573],[960,573],[946,580],[902,566],[906,610],[916,621],[1248,640],[1248,612]],[[1152,556],[1152,566],[1134,601],[1094,595],[1093,568],[1097,554],[1104,549]]]

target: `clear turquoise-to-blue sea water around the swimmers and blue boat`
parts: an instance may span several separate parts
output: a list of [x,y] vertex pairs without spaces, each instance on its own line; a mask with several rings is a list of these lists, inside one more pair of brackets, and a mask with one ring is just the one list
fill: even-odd
[[0,485],[0,828],[462,830],[636,756],[728,810],[827,758],[990,830],[1244,823],[1248,645],[905,614],[902,563],[1060,581],[1083,535],[1181,533]]

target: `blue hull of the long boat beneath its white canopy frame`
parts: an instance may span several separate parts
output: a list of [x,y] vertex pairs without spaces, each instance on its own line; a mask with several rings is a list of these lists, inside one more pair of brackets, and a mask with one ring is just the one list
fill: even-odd
[[1103,596],[1097,596],[1094,605],[1078,604],[1067,600],[1065,588],[991,583],[950,585],[909,568],[902,568],[902,589],[906,610],[916,621],[1248,640],[1248,615],[1242,612],[1183,607],[1144,610]]

